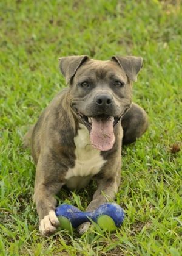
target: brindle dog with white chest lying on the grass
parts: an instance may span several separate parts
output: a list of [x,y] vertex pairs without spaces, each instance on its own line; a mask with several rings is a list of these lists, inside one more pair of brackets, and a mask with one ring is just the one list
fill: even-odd
[[[143,66],[141,57],[113,56],[93,60],[87,55],[61,57],[64,88],[45,108],[24,138],[36,164],[33,201],[39,231],[49,235],[59,226],[55,195],[96,180],[87,211],[112,200],[121,174],[121,145],[136,141],[147,129],[143,108],[132,103],[132,82]],[[84,233],[90,223],[78,228]]]

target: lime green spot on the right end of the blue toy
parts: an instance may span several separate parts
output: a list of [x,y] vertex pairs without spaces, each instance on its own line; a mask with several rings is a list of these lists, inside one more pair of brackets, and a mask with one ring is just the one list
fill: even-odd
[[108,215],[100,215],[97,219],[97,224],[101,229],[105,229],[110,232],[117,229],[115,222]]

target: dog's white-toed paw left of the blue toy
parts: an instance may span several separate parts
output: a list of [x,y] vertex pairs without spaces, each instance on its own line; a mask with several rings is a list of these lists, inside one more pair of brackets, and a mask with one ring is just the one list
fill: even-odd
[[59,220],[55,214],[55,211],[51,210],[49,215],[45,215],[44,219],[41,219],[39,223],[39,232],[42,235],[50,235],[56,231],[56,227],[59,226]]

